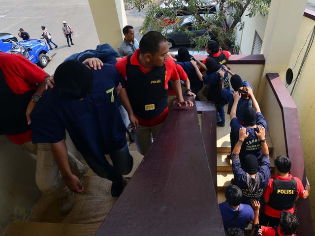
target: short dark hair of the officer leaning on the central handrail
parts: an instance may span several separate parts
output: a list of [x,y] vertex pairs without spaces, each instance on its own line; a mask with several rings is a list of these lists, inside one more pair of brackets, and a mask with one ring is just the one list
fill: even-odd
[[159,44],[167,42],[167,39],[157,31],[149,31],[140,40],[139,49],[142,54],[155,55],[159,51]]

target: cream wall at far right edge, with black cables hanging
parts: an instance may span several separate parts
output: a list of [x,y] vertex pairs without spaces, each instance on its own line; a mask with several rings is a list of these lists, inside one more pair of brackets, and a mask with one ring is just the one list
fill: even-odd
[[[296,38],[296,42],[294,48],[292,50],[292,56],[289,61],[288,67],[292,68],[295,64],[295,61],[300,53],[304,43],[307,40],[307,37],[311,30],[313,29],[315,21],[303,17],[301,27],[298,32],[298,37]],[[306,47],[308,45],[310,37],[308,37],[307,43],[303,50],[301,51],[301,55],[297,60],[296,66],[293,69],[293,80],[296,78],[298,70],[300,68],[302,59],[304,57]],[[315,68],[315,45],[311,47],[309,55],[304,63],[304,66],[301,70],[301,74],[296,83],[295,89],[293,91],[292,97],[298,108],[300,127],[301,127],[301,137],[302,137],[302,145],[303,145],[303,154],[305,161],[305,169],[308,174],[307,177],[314,186],[315,184],[315,175],[311,173],[315,173],[315,76],[314,76],[314,68]],[[293,84],[288,87],[288,90],[291,91],[293,88]],[[314,194],[310,195],[311,201],[311,214],[312,219],[315,220],[315,196]],[[315,224],[313,224],[313,229],[315,230]]]

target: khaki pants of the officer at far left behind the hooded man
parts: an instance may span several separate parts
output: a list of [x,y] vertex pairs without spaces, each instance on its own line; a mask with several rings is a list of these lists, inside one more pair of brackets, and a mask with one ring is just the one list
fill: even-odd
[[[22,145],[32,154],[37,155],[36,184],[40,191],[52,194],[57,198],[63,198],[69,192],[63,177],[51,152],[50,144],[32,144],[26,142]],[[83,170],[83,164],[68,152],[69,165],[73,175],[78,175]]]

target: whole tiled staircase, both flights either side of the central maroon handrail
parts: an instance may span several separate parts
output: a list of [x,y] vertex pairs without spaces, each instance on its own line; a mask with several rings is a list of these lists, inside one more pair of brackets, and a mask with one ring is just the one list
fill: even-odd
[[[229,116],[227,115],[225,119],[225,127],[217,127],[218,203],[225,201],[225,188],[230,185],[233,178],[231,160],[226,159],[231,149]],[[272,153],[273,145],[269,134],[267,142]],[[129,146],[129,149],[134,158],[134,166],[126,177],[133,175],[143,158],[136,151],[135,144]],[[75,195],[75,206],[68,215],[63,216],[59,213],[58,199],[43,194],[29,220],[12,222],[3,236],[94,236],[117,198],[111,197],[111,182],[96,176],[91,169],[84,177],[83,184],[85,191]]]

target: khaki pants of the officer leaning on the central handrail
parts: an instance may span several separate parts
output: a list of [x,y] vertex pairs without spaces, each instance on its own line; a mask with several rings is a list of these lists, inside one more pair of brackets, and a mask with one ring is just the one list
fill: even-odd
[[153,127],[139,125],[138,128],[134,131],[134,142],[137,145],[139,153],[141,153],[142,155],[145,155],[147,153],[152,144],[151,134],[153,138],[155,138],[158,135],[159,129],[161,128],[162,124],[163,123]]

